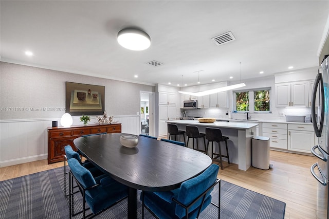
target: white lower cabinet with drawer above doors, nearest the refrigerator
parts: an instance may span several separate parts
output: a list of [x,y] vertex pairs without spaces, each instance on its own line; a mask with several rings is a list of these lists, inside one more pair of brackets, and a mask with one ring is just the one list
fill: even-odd
[[288,124],[288,150],[310,153],[314,144],[312,124]]

